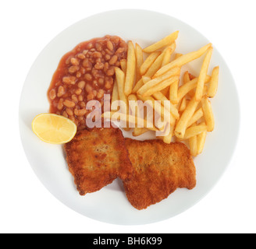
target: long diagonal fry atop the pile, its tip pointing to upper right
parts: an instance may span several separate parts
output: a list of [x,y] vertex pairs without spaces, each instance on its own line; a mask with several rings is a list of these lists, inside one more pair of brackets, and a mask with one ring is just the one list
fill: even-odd
[[204,47],[201,47],[198,51],[183,54],[183,56],[176,58],[176,60],[160,68],[158,72],[155,73],[153,78],[157,78],[159,75],[163,75],[165,72],[168,72],[169,69],[171,68],[181,67],[183,65],[186,65],[190,61],[194,61],[195,59],[200,58],[206,51],[208,51],[209,47],[212,47],[212,44],[207,44]]

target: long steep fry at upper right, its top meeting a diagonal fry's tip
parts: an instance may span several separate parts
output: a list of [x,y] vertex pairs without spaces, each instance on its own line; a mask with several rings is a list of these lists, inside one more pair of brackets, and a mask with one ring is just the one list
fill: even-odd
[[204,61],[203,61],[203,65],[201,67],[201,71],[198,77],[198,81],[197,81],[197,89],[196,89],[196,100],[200,101],[202,96],[203,96],[203,92],[204,92],[204,81],[208,72],[208,67],[212,58],[212,51],[213,48],[210,47],[208,49],[207,54],[205,55]]

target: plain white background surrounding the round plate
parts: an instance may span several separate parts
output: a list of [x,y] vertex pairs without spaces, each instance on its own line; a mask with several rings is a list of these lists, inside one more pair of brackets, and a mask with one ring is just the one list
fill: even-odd
[[[219,183],[186,212],[144,226],[101,223],[62,205],[38,181],[20,141],[20,93],[37,55],[66,27],[112,9],[154,10],[194,26],[226,60],[240,96],[240,139]],[[254,10],[253,0],[2,1],[0,233],[255,233]]]

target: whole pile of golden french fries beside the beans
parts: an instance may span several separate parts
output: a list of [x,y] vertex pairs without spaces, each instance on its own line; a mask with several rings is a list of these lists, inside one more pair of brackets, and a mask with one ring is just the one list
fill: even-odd
[[[170,115],[169,133],[158,139],[169,144],[172,141],[187,142],[192,156],[201,154],[207,132],[212,132],[215,120],[210,98],[214,97],[219,82],[219,66],[212,75],[208,75],[208,67],[212,58],[212,44],[201,47],[188,54],[176,53],[176,39],[179,31],[159,40],[155,44],[142,49],[139,44],[128,42],[127,59],[120,61],[121,68],[116,68],[116,82],[112,92],[112,103],[123,100],[126,105],[120,119],[135,124],[133,136],[142,135],[155,128],[137,127],[138,119],[129,113],[130,100],[169,101]],[[198,76],[184,72],[181,68],[190,61],[204,56]],[[153,108],[156,108],[154,103]],[[159,109],[162,111],[162,108]],[[112,105],[108,114],[116,112]],[[122,110],[121,110],[122,112]],[[145,117],[147,119],[147,117]],[[129,130],[130,128],[125,128]]]

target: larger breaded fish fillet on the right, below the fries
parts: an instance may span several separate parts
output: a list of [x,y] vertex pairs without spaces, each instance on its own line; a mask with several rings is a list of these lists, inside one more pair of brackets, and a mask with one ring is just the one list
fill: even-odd
[[196,170],[190,151],[183,143],[165,144],[161,140],[126,139],[133,174],[123,185],[126,196],[136,209],[161,202],[176,188],[192,189]]

